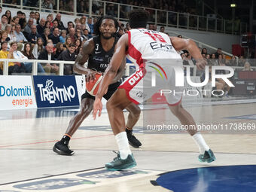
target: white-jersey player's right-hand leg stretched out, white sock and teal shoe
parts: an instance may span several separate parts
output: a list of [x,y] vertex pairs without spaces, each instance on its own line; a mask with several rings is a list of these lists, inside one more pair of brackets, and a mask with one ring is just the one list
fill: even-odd
[[196,142],[199,147],[200,155],[198,159],[201,162],[208,163],[211,163],[212,161],[216,160],[215,155],[213,154],[209,146],[206,144],[205,140],[203,139],[203,136],[199,132],[197,132],[197,125],[194,121],[194,118],[182,107],[181,102],[178,102],[177,105],[169,105],[169,108],[172,111],[172,114],[174,114],[175,117],[177,117],[178,120],[180,120],[182,125],[192,125],[190,127],[193,128],[187,129],[187,132],[190,134],[190,136],[192,136],[194,142]]

